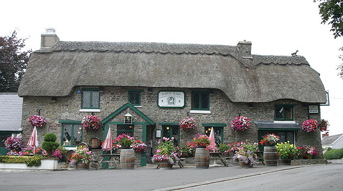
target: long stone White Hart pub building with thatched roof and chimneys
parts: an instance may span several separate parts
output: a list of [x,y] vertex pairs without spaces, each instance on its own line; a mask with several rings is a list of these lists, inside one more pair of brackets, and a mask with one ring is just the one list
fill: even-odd
[[[303,56],[251,54],[248,41],[237,46],[66,42],[54,32],[41,39],[18,90],[24,98],[24,140],[33,128],[24,119],[42,109],[47,124],[37,128],[40,142],[52,132],[74,148],[93,137],[104,140],[111,127],[114,137],[126,133],[147,143],[141,165],[162,137],[185,145],[212,127],[217,144],[258,142],[275,133],[282,142],[321,151],[320,131],[301,130],[305,120],[320,120],[320,103],[326,102],[319,73]],[[309,113],[309,106],[316,112]],[[132,124],[124,123],[127,113]],[[100,117],[103,128],[83,130],[81,120],[88,115]],[[196,130],[179,127],[187,115],[196,119]],[[245,132],[231,129],[239,115],[250,119]]]

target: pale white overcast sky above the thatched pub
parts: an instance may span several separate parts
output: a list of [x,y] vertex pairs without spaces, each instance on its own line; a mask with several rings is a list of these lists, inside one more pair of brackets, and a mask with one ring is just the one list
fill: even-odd
[[336,70],[343,37],[334,39],[331,27],[320,24],[313,0],[2,0],[1,7],[0,36],[17,30],[32,50],[50,27],[61,41],[235,46],[246,40],[252,54],[298,50],[329,91],[330,106],[320,107],[329,135],[343,133],[343,79]]

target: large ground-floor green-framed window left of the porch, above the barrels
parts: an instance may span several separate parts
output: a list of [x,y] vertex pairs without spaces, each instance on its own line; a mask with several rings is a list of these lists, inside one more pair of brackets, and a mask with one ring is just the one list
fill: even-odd
[[61,145],[66,147],[74,147],[82,143],[82,125],[79,124],[62,124]]

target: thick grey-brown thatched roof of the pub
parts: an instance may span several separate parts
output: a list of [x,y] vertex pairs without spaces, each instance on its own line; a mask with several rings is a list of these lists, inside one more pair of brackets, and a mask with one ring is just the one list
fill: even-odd
[[68,96],[75,86],[222,90],[233,102],[326,102],[303,56],[242,57],[237,46],[62,42],[32,53],[20,96]]

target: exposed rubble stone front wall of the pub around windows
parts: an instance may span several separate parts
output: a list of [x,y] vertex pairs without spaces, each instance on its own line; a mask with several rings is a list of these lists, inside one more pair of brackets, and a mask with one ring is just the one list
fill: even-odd
[[[81,88],[80,88],[81,89]],[[156,150],[158,138],[156,138],[155,130],[162,129],[159,122],[179,122],[187,116],[191,108],[191,95],[192,91],[196,89],[175,89],[175,88],[152,88],[149,93],[147,88],[135,87],[104,87],[104,91],[100,92],[100,112],[95,112],[94,115],[99,116],[101,119],[106,118],[111,113],[119,109],[128,101],[127,90],[139,89],[141,92],[141,107],[137,109],[147,115],[148,118],[153,120],[156,124],[153,127],[152,143],[153,151]],[[68,97],[57,97],[57,101],[51,101],[51,97],[24,97],[23,103],[23,139],[27,142],[31,135],[33,127],[29,125],[27,119],[37,114],[37,109],[41,110],[41,115],[46,117],[47,124],[38,128],[38,141],[42,143],[43,137],[46,133],[55,133],[60,142],[62,125],[58,123],[59,119],[81,120],[86,115],[91,115],[91,112],[80,112],[81,109],[81,94],[76,94],[76,88],[72,95]],[[157,105],[157,95],[159,91],[183,91],[185,93],[185,107],[184,108],[160,108]],[[202,123],[226,123],[224,127],[224,143],[232,143],[239,141],[253,141],[258,142],[257,137],[258,129],[253,123],[255,120],[274,120],[274,105],[275,104],[293,104],[294,105],[294,121],[302,124],[308,118],[320,120],[319,114],[308,115],[308,104],[301,103],[295,100],[283,99],[276,100],[268,103],[233,103],[224,95],[220,90],[210,90],[210,112],[211,114],[192,114],[189,116],[196,119],[197,130],[183,131],[180,130],[181,144],[186,144],[191,141],[197,133],[203,133],[204,127]],[[127,113],[125,109],[122,113],[111,119],[111,121],[123,121],[124,115]],[[141,116],[130,110],[135,122],[146,122]],[[239,114],[250,119],[250,129],[245,132],[234,132],[231,129],[231,120]],[[112,137],[117,136],[116,125],[111,124]],[[106,132],[107,133],[107,132]],[[150,133],[150,132],[147,132]],[[134,126],[134,136],[138,139],[142,138],[142,125]],[[88,143],[90,138],[98,137],[103,139],[103,130],[99,129],[97,132],[83,131],[83,142]],[[147,140],[148,142],[149,140]],[[309,144],[318,149],[319,156],[322,157],[321,141],[319,130],[315,133],[306,133],[302,130],[296,132],[295,144],[301,146]]]

